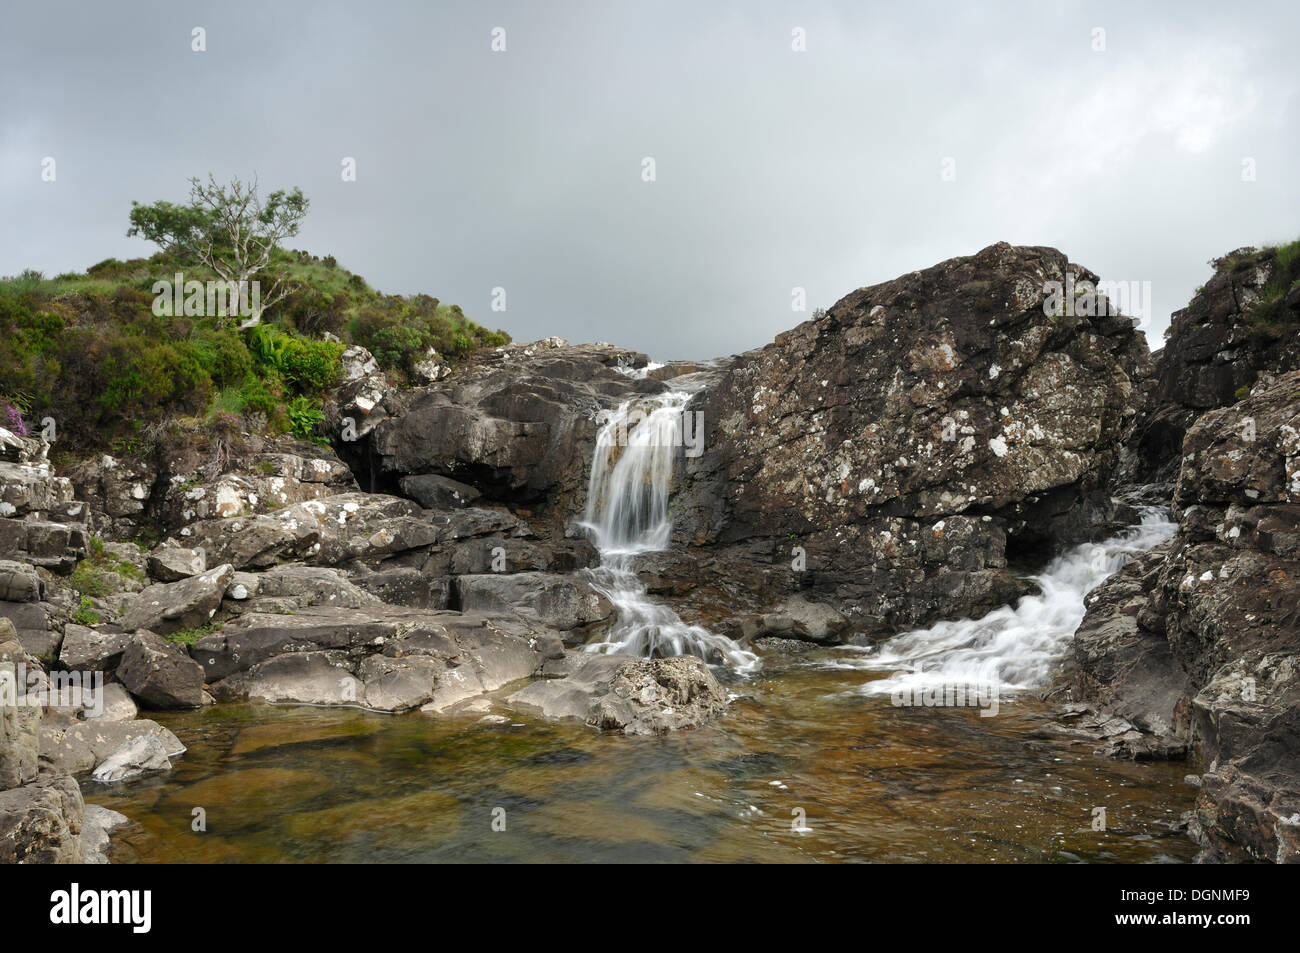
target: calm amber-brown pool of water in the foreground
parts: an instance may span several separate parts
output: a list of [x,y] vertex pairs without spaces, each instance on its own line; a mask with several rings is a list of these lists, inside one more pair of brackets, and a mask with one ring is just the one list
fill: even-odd
[[[601,733],[512,714],[216,705],[160,715],[165,774],[87,783],[134,823],[114,863],[1186,862],[1188,766],[1030,736],[1030,696],[894,707],[833,650],[770,657],[708,728]],[[500,692],[508,694],[508,690]],[[1093,831],[1105,807],[1106,829]],[[205,831],[195,831],[202,809]]]

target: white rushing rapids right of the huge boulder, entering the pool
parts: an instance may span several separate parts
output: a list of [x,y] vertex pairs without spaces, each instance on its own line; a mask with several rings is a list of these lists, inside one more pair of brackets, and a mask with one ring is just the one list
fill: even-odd
[[893,672],[858,692],[868,696],[983,685],[1001,693],[1043,688],[1066,654],[1086,610],[1084,598],[1130,558],[1174,534],[1164,510],[1143,510],[1141,525],[1100,543],[1076,546],[1053,559],[1026,595],[980,619],[941,621],[905,632],[863,654],[829,663],[836,668]]

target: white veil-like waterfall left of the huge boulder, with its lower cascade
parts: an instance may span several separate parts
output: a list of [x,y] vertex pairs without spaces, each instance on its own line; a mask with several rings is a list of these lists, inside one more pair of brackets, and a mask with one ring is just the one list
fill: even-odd
[[601,428],[584,520],[601,553],[601,566],[589,569],[588,576],[614,603],[619,618],[606,641],[588,645],[586,650],[646,658],[698,655],[711,664],[748,672],[758,668],[758,655],[725,636],[688,625],[671,608],[653,602],[632,569],[634,556],[668,547],[668,490],[682,446],[681,413],[689,399],[686,391],[670,391],[628,400]]

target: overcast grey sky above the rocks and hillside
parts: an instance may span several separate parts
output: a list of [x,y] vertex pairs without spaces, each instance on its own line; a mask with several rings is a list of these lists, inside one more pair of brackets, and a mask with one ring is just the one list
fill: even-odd
[[0,274],[256,176],[292,247],[516,341],[736,354],[1006,241],[1150,282],[1156,348],[1300,237],[1294,1],[0,3]]

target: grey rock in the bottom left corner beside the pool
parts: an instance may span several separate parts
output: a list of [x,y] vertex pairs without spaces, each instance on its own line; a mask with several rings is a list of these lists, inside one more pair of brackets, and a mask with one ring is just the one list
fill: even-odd
[[83,813],[72,777],[0,790],[0,863],[81,863]]

